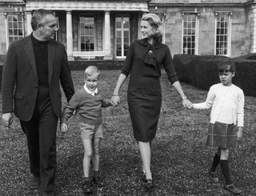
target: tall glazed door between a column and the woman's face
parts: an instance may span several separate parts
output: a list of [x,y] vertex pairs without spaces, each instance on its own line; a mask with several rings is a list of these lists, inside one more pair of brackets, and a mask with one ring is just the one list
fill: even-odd
[[125,58],[130,46],[129,17],[115,18],[115,35],[116,58]]

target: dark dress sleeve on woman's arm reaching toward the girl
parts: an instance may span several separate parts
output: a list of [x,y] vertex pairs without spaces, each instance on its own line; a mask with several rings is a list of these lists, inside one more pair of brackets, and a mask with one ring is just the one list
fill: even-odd
[[178,81],[178,76],[175,71],[174,62],[171,58],[169,47],[166,46],[166,55],[163,60],[163,66],[171,84]]

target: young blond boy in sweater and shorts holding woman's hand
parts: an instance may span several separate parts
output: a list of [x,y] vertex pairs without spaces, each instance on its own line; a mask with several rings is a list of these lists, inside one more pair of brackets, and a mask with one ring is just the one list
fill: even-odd
[[[114,106],[110,100],[102,98],[101,91],[98,90],[98,80],[100,71],[96,66],[88,66],[85,70],[85,86],[77,90],[70,102],[62,111],[61,130],[66,133],[66,121],[73,116],[74,111],[79,115],[79,127],[82,135],[84,147],[83,189],[86,193],[92,192],[92,183],[98,186],[105,186],[98,174],[99,168],[99,145],[103,138],[102,134],[102,107]],[[94,175],[90,179],[90,161],[94,168]]]

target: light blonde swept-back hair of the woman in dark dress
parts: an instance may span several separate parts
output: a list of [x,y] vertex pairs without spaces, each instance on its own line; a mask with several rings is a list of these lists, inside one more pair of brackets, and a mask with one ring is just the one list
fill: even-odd
[[162,23],[157,14],[148,13],[142,16],[142,21],[147,21],[150,23],[150,26],[155,27],[156,31],[154,33],[154,38],[158,40],[158,42],[162,42]]

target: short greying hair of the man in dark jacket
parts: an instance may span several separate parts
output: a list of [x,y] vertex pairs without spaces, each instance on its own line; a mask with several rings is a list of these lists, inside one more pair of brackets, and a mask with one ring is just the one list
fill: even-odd
[[44,20],[44,18],[46,18],[46,15],[48,14],[52,14],[55,16],[52,10],[45,10],[45,9],[34,10],[31,18],[32,30],[37,30],[38,24],[41,23]]

